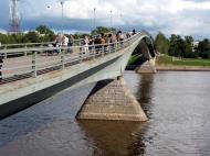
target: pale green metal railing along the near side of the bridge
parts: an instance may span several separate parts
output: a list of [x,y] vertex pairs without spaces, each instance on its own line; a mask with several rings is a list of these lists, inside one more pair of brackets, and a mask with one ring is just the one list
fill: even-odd
[[0,71],[2,73],[0,78],[12,79],[13,81],[27,77],[36,77],[52,70],[63,70],[69,66],[81,64],[82,62],[117,53],[128,47],[139,35],[140,33],[137,33],[123,42],[90,46],[39,46],[1,49],[0,56],[4,59],[3,63],[0,63]]

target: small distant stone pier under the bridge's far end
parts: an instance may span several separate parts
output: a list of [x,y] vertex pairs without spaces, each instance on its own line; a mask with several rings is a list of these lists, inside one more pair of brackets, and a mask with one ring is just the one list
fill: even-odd
[[156,58],[151,58],[144,63],[140,67],[137,67],[135,70],[137,74],[155,74],[157,73],[155,63]]

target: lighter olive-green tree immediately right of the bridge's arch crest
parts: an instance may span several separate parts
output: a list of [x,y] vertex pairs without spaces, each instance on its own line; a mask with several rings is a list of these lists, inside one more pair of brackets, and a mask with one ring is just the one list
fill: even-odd
[[156,36],[155,47],[159,53],[168,54],[169,41],[161,32]]

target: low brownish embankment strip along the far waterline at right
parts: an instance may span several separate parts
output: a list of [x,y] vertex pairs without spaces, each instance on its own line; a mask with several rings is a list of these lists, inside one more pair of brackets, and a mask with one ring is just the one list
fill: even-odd
[[210,66],[174,66],[174,65],[157,65],[157,71],[210,71]]

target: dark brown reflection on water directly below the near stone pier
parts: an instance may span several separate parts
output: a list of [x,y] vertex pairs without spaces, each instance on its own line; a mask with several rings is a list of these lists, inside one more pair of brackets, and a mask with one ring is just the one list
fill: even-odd
[[94,156],[129,156],[145,153],[141,140],[145,132],[144,123],[84,120],[80,121],[80,125],[88,141],[94,144]]

